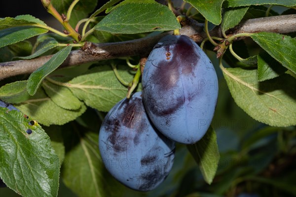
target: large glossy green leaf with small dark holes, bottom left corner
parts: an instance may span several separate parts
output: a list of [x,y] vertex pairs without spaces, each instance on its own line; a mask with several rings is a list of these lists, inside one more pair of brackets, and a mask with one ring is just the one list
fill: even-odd
[[[25,197],[56,197],[59,158],[39,125],[16,110],[0,107],[0,177]],[[30,129],[31,134],[26,131]]]

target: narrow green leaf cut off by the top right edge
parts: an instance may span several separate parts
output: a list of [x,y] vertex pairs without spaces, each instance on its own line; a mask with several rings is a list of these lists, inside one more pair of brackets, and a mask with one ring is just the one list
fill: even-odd
[[264,4],[284,5],[288,7],[296,6],[295,0],[227,0],[226,4],[228,7]]

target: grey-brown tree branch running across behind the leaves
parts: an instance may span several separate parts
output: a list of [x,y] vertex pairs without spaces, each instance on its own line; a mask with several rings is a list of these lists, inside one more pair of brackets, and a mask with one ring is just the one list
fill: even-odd
[[[272,16],[257,19],[249,19],[241,22],[235,28],[228,31],[236,33],[292,33],[296,32],[296,14]],[[171,33],[171,32],[169,32]],[[162,33],[153,37],[135,39],[113,43],[86,43],[81,50],[72,51],[69,57],[60,67],[76,66],[83,63],[108,60],[118,57],[141,55],[147,57],[157,41],[166,34]],[[201,42],[206,38],[203,31],[203,24],[190,19],[186,26],[180,30],[181,34],[191,37],[195,42]],[[220,26],[210,32],[212,36],[222,37]],[[38,67],[46,63],[52,55],[42,56],[33,60],[19,60],[0,63],[0,80],[19,74],[34,72]]]

